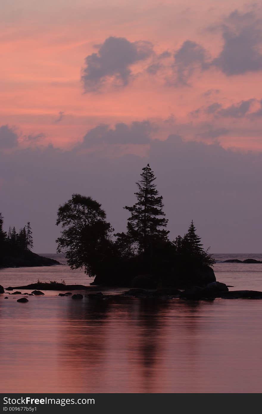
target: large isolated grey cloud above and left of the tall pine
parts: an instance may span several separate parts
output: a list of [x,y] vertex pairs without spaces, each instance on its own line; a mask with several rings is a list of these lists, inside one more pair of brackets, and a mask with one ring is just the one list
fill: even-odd
[[88,55],[82,71],[84,90],[97,91],[107,80],[126,86],[132,77],[130,66],[149,58],[153,53],[150,42],[130,42],[123,37],[108,37],[97,53]]

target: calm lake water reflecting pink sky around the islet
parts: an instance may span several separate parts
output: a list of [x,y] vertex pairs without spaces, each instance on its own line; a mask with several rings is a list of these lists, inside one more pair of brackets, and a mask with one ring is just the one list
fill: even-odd
[[[214,257],[218,281],[262,291],[262,264],[221,263],[262,255]],[[92,281],[67,266],[0,270],[4,287],[37,279]],[[28,303],[0,295],[1,392],[262,391],[261,300],[74,301],[44,292]]]

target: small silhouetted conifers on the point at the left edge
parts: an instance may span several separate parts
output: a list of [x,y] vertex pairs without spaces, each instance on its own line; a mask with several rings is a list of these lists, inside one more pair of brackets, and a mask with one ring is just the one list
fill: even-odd
[[33,237],[30,222],[18,232],[15,227],[9,227],[8,232],[3,230],[4,218],[0,213],[0,267],[4,260],[9,257],[16,257],[33,247]]

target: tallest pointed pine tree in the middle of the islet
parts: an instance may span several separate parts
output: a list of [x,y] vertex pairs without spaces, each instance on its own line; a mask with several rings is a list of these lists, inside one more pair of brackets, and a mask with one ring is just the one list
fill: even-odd
[[156,177],[149,164],[142,168],[138,181],[137,202],[124,208],[131,213],[127,223],[127,235],[137,244],[139,253],[152,256],[153,245],[167,241],[169,231],[163,229],[168,220],[163,212],[163,197],[159,196],[154,181]]

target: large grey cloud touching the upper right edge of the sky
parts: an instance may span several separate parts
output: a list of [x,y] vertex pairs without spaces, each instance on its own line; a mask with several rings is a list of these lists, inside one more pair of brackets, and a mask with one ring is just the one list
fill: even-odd
[[243,75],[262,69],[261,20],[254,12],[232,12],[220,25],[224,46],[212,65],[227,76]]

